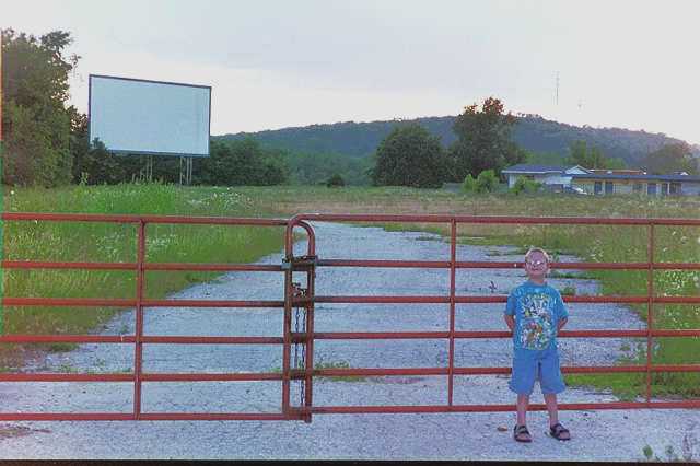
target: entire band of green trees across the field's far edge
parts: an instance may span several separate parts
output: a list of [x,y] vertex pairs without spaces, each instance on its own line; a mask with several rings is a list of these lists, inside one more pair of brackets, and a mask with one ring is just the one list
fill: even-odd
[[[1,37],[3,184],[52,187],[81,182],[116,184],[143,177],[142,158],[115,155],[100,141],[89,141],[88,116],[68,104],[69,77],[80,60],[79,56],[67,54],[72,43],[70,33],[54,31],[35,37],[8,28],[1,31]],[[476,180],[483,172],[492,172],[498,178],[503,168],[522,162],[561,164],[560,153],[527,151],[515,143],[512,133],[516,123],[515,116],[504,113],[500,100],[489,97],[480,105],[465,107],[454,119],[453,142],[447,147],[442,145],[432,128],[394,121],[393,130],[369,158],[348,158],[332,151],[292,151],[282,142],[276,147],[253,137],[214,137],[210,156],[194,161],[192,183],[440,187],[444,182],[468,183],[468,176]],[[365,145],[370,142],[363,140]],[[178,182],[178,158],[155,156],[153,161],[156,178]],[[621,159],[607,158],[584,141],[570,145],[567,162],[595,168],[625,166]],[[698,173],[697,161],[686,143],[652,151],[644,164],[653,173]],[[483,182],[479,186],[491,184]]]

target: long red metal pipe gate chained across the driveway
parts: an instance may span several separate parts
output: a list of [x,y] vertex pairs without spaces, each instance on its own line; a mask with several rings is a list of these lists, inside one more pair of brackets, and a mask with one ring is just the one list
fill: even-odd
[[[314,413],[370,413],[370,412],[468,412],[511,411],[514,405],[457,405],[453,400],[455,375],[509,374],[509,368],[459,368],[455,366],[455,340],[468,338],[510,338],[510,331],[456,331],[455,305],[458,303],[504,303],[504,295],[459,296],[456,294],[457,269],[520,268],[522,263],[504,261],[458,261],[456,257],[457,225],[468,223],[486,224],[587,224],[629,225],[646,228],[648,260],[639,263],[555,263],[552,269],[626,269],[648,271],[648,293],[639,296],[565,296],[571,303],[645,303],[648,327],[643,330],[569,330],[561,331],[561,338],[611,338],[642,337],[646,339],[645,365],[620,366],[564,366],[564,373],[645,373],[645,400],[615,403],[561,404],[560,409],[638,409],[638,408],[699,408],[700,400],[653,401],[651,376],[655,372],[700,372],[700,364],[660,365],[652,363],[652,343],[656,337],[700,337],[700,329],[655,329],[655,303],[698,304],[700,296],[657,296],[653,289],[654,270],[700,269],[700,263],[658,263],[654,260],[654,228],[656,225],[700,226],[695,219],[599,219],[599,218],[522,218],[522,217],[476,217],[476,215],[350,215],[350,214],[301,214],[290,220],[229,219],[229,218],[185,218],[154,215],[88,215],[88,214],[42,214],[3,213],[5,221],[88,221],[117,222],[138,225],[138,252],[136,263],[45,263],[3,260],[7,269],[93,269],[133,270],[137,273],[135,299],[48,299],[48,298],[2,298],[4,306],[116,306],[136,308],[136,333],[131,336],[56,336],[56,335],[3,335],[0,342],[102,342],[133,345],[135,370],[132,374],[34,374],[0,373],[0,382],[125,382],[133,384],[133,410],[125,413],[45,413],[3,412],[0,420],[305,420],[311,422]],[[416,222],[442,223],[451,228],[450,260],[357,260],[352,258],[322,259],[316,256],[314,230],[310,221],[330,222]],[[279,266],[249,264],[150,264],[145,261],[147,225],[153,223],[189,223],[223,225],[287,226],[285,258]],[[308,236],[306,254],[294,256],[294,229],[302,228]],[[318,296],[315,294],[315,276],[324,267],[383,267],[383,268],[442,268],[450,270],[450,295],[446,296]],[[147,270],[198,270],[198,271],[259,271],[284,273],[284,301],[212,301],[212,300],[147,300],[144,299],[144,272]],[[294,272],[306,275],[305,286],[294,282]],[[11,291],[11,290],[10,290]],[[450,328],[443,331],[393,331],[393,333],[317,333],[314,330],[314,305],[316,303],[443,303],[450,306]],[[144,307],[279,307],[283,310],[281,337],[167,337],[143,335]],[[294,310],[303,310],[301,328],[292,328]],[[447,366],[401,368],[401,369],[315,369],[314,341],[317,340],[370,340],[370,339],[443,339],[448,341]],[[282,345],[281,373],[252,374],[168,374],[142,371],[143,345]],[[292,360],[293,349],[302,349],[303,363]],[[382,375],[442,375],[447,376],[447,399],[443,405],[423,406],[314,406],[314,377],[336,376],[382,376]],[[260,412],[143,412],[141,409],[141,384],[143,382],[197,382],[197,381],[281,381],[282,399],[280,411]],[[299,405],[291,400],[291,383],[301,386]],[[544,410],[544,405],[530,405],[530,409]]]

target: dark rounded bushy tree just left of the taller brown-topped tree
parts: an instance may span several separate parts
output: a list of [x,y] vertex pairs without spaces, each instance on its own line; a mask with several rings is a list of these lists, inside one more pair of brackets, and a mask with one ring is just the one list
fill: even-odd
[[440,139],[412,124],[398,126],[380,143],[372,173],[377,186],[442,186],[445,158]]

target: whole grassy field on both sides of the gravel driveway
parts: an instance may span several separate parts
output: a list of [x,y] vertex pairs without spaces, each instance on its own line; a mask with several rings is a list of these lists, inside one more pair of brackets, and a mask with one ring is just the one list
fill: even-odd
[[[226,217],[291,217],[300,212],[477,214],[523,217],[699,218],[700,198],[590,197],[534,195],[462,195],[410,188],[326,187],[188,187],[166,185],[73,186],[62,189],[5,189],[5,211],[149,213]],[[51,222],[8,222],[7,259],[133,261],[133,226]],[[447,226],[389,224],[389,230],[429,231],[447,235]],[[280,229],[219,226],[149,228],[149,261],[249,261],[279,251]],[[152,230],[151,230],[152,229]],[[460,225],[466,244],[539,245],[557,254],[575,254],[588,261],[646,259],[646,230],[639,226]],[[655,259],[700,260],[700,229],[656,228]],[[646,293],[646,271],[590,271],[603,293]],[[159,298],[209,273],[149,273],[148,295]],[[656,271],[658,295],[698,295],[699,271]],[[5,270],[4,290],[12,296],[133,296],[132,272]],[[633,307],[646,318],[646,306]],[[7,308],[5,331],[11,334],[79,334],[97,327],[113,310]],[[700,306],[657,305],[656,328],[700,328]],[[658,338],[655,363],[700,363],[700,339]],[[61,349],[55,346],[54,349]],[[645,363],[645,345],[630,361]],[[569,383],[612,387],[623,397],[643,393],[644,374],[571,375]],[[653,377],[656,394],[700,396],[700,374],[662,373]]]

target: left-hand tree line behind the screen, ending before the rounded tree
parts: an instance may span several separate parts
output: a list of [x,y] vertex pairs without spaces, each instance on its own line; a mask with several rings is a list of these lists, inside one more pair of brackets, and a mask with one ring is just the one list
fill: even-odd
[[[68,55],[70,33],[36,37],[2,30],[2,183],[54,187],[117,184],[144,177],[145,159],[115,155],[89,141],[88,115],[69,105],[69,77],[80,57]],[[368,184],[365,160],[308,154],[254,138],[211,138],[208,158],[192,162],[192,183],[206,185]],[[153,158],[153,176],[179,180],[180,160]],[[342,176],[340,176],[342,175]],[[335,177],[334,177],[335,176]]]

